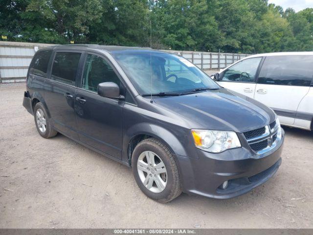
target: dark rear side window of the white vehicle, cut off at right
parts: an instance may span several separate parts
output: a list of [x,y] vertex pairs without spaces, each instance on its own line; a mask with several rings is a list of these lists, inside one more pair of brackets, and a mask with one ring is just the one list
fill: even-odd
[[260,71],[258,83],[310,86],[312,65],[312,55],[268,56]]

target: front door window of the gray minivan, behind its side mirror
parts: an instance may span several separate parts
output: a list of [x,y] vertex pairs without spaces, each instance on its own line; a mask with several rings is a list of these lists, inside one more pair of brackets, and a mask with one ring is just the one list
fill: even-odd
[[96,92],[99,83],[114,82],[120,86],[120,80],[106,60],[96,55],[87,55],[83,75],[83,88]]

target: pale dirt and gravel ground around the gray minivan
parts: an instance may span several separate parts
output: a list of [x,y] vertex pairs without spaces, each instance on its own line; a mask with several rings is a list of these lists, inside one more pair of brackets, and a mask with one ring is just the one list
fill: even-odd
[[283,162],[246,195],[148,199],[131,169],[37,133],[25,84],[0,85],[0,228],[313,228],[313,133],[285,128]]

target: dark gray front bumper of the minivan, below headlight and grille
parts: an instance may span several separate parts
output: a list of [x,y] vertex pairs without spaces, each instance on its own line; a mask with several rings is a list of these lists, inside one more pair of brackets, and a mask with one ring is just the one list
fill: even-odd
[[[282,129],[281,141],[272,151],[262,155],[256,155],[243,146],[218,155],[197,149],[198,159],[177,156],[183,191],[220,199],[236,197],[250,191],[276,173],[281,164],[284,138]],[[227,180],[228,187],[219,188]]]

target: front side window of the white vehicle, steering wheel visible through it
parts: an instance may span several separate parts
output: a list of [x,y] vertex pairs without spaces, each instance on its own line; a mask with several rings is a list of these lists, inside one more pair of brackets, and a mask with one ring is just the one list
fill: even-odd
[[222,81],[254,82],[262,57],[243,60],[224,71]]

